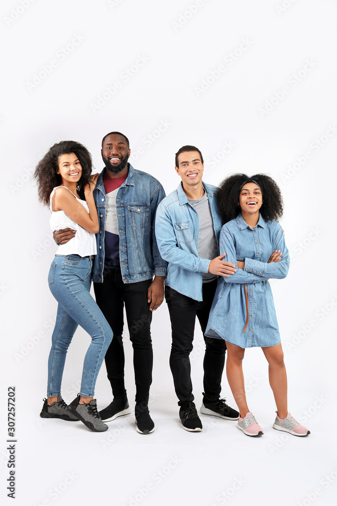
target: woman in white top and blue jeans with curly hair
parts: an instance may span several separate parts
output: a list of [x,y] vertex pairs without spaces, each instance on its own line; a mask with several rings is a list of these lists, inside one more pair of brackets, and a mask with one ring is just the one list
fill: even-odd
[[[47,398],[40,416],[75,421],[94,432],[108,429],[93,399],[95,382],[112,330],[90,295],[91,268],[96,250],[99,220],[90,182],[91,155],[74,141],[54,144],[36,166],[39,200],[49,204],[53,231],[70,228],[75,235],[61,244],[52,262],[48,282],[58,301],[58,311],[48,361]],[[68,347],[77,326],[91,336],[86,352],[80,394],[67,406],[61,382]]]

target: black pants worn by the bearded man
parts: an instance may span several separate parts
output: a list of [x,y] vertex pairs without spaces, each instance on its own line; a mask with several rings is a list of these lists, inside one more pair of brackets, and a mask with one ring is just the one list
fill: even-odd
[[150,333],[152,312],[148,288],[152,279],[123,283],[120,269],[107,269],[103,283],[93,283],[96,302],[114,333],[105,356],[108,379],[114,396],[125,395],[124,347],[122,340],[125,312],[133,348],[136,402],[148,402],[152,383],[153,351]]

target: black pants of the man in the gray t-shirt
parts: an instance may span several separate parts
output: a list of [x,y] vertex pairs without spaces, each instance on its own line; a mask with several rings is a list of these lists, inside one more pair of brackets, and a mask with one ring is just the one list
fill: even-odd
[[194,328],[198,317],[206,351],[204,357],[204,392],[209,401],[219,399],[221,378],[225,365],[226,343],[222,339],[207,338],[205,330],[210,314],[217,281],[203,284],[203,301],[198,302],[177,292],[170,286],[165,287],[165,299],[170,313],[172,327],[172,348],[170,368],[173,375],[175,393],[181,406],[193,401],[190,377],[189,354],[193,349]]

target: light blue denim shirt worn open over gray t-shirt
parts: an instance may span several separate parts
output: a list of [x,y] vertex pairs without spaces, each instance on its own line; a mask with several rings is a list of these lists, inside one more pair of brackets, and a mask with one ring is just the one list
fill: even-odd
[[[203,185],[219,244],[221,218],[214,198],[217,188],[206,183]],[[191,299],[202,301],[203,272],[208,272],[213,259],[198,256],[199,216],[188,202],[181,183],[158,206],[156,238],[161,256],[169,262],[165,284]]]

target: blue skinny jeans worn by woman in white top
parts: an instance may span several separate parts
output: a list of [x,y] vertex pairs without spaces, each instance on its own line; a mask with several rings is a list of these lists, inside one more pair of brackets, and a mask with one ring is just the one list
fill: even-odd
[[48,360],[48,397],[61,395],[66,354],[78,325],[91,336],[84,357],[80,394],[83,397],[94,394],[96,379],[113,333],[89,293],[91,268],[92,260],[79,255],[57,255],[51,265],[48,282],[59,305]]

